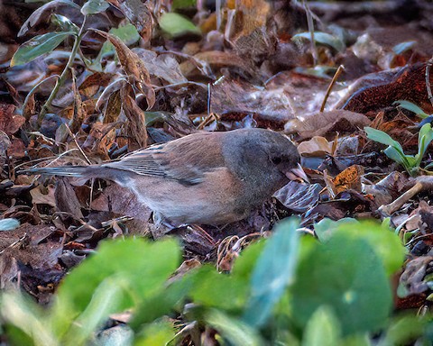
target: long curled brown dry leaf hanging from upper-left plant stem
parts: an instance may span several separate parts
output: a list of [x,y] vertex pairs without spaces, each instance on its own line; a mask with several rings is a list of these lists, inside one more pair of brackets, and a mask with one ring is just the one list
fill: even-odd
[[133,79],[134,86],[144,96],[146,96],[147,109],[151,109],[155,104],[155,91],[151,85],[149,71],[145,67],[142,59],[140,59],[133,50],[130,50],[128,46],[126,46],[124,42],[115,35],[97,29],[92,30],[105,37],[115,46],[115,51],[117,52],[119,61],[124,69],[124,73]]

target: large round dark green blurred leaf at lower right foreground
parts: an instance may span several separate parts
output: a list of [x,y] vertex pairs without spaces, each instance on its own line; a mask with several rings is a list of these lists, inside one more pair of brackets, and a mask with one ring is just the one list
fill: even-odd
[[382,259],[370,241],[349,232],[336,232],[310,248],[299,262],[290,296],[291,317],[299,327],[307,325],[319,306],[329,305],[343,335],[379,330],[392,307]]

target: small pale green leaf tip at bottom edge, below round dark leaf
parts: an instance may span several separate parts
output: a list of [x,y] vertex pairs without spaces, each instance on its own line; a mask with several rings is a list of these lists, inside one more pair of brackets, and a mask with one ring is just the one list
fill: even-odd
[[320,306],[305,327],[302,346],[336,346],[340,344],[340,323],[328,306]]

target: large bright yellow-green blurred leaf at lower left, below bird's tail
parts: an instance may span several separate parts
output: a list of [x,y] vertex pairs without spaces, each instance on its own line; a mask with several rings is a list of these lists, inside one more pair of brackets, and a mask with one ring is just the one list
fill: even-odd
[[59,334],[66,332],[70,323],[88,308],[97,288],[113,276],[122,289],[116,299],[117,310],[139,305],[161,292],[179,259],[180,249],[173,240],[102,241],[97,253],[73,269],[60,285],[51,312],[53,328]]

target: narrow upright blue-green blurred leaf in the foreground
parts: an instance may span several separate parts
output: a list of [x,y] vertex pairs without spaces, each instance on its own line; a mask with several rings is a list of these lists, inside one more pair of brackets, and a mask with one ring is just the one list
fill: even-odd
[[275,227],[266,241],[251,278],[251,296],[244,312],[244,321],[257,327],[272,313],[285,287],[294,280],[298,262],[299,219],[291,217]]

